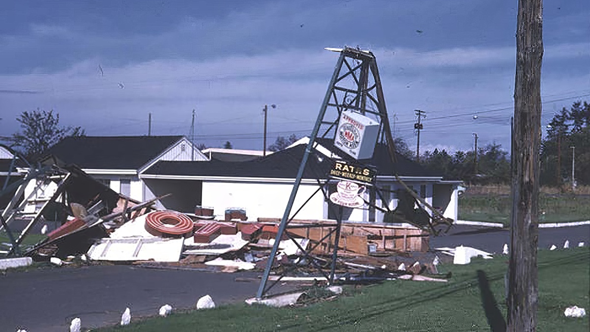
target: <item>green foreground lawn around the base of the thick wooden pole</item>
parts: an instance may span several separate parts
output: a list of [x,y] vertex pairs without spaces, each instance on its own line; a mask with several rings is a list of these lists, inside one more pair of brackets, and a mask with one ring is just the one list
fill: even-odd
[[[446,284],[388,281],[356,291],[348,289],[352,296],[309,307],[226,305],[99,331],[490,331],[490,325],[501,325],[506,317],[507,259],[497,256],[474,259],[469,265],[446,265],[444,272],[453,272]],[[563,315],[571,305],[588,311],[589,295],[588,247],[539,251],[537,331],[589,331],[588,316]]]

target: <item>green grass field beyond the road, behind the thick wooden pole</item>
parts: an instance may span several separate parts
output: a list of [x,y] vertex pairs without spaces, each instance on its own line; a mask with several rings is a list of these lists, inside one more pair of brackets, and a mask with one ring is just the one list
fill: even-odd
[[[510,223],[511,207],[509,196],[466,194],[459,199],[459,220],[503,223],[507,226]],[[539,210],[545,211],[545,217],[539,218],[539,222],[542,223],[590,220],[590,197],[540,194]]]

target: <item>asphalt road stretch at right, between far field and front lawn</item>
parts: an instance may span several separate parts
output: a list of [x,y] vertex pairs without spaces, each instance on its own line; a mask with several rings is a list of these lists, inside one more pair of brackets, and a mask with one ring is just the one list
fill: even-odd
[[[563,248],[569,240],[569,246],[584,242],[590,244],[590,225],[539,229],[539,248],[555,245]],[[490,253],[500,253],[504,243],[510,245],[510,231],[489,227],[459,225],[453,227],[446,235],[431,237],[430,248],[469,246]]]

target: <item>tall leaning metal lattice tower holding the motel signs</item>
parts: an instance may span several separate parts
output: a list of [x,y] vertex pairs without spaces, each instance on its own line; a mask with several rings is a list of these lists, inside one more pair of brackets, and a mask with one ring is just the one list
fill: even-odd
[[[394,141],[391,135],[391,128],[389,127],[389,118],[385,108],[385,99],[383,97],[383,90],[381,87],[381,79],[379,77],[379,70],[375,56],[371,51],[360,50],[357,48],[326,48],[329,51],[335,51],[340,54],[332,79],[330,80],[326,95],[324,96],[322,106],[317,115],[316,123],[313,127],[312,133],[309,137],[309,142],[304,151],[303,158],[300,160],[299,171],[291,190],[291,195],[287,203],[286,209],[278,227],[277,237],[275,239],[273,249],[267,262],[264,275],[258,288],[257,298],[263,298],[267,291],[272,288],[278,281],[268,285],[269,276],[273,264],[276,261],[278,246],[280,240],[284,237],[289,237],[297,245],[299,250],[304,253],[303,259],[309,258],[309,261],[317,268],[322,275],[333,283],[335,279],[335,265],[337,258],[337,250],[339,246],[340,224],[342,223],[343,207],[358,208],[365,206],[366,201],[360,200],[358,194],[360,188],[371,187],[371,191],[375,195],[382,196],[379,188],[374,185],[376,177],[376,170],[367,162],[370,162],[373,157],[373,151],[377,144],[386,145],[387,152],[391,158],[392,163],[395,163],[395,148]],[[316,158],[316,160],[323,160],[326,157],[325,153],[319,152],[317,149],[318,141],[322,144],[330,142],[330,150],[337,151],[337,156],[332,154],[333,167],[329,174],[320,174],[317,170],[313,170],[313,164],[309,158]],[[305,204],[312,198],[308,198],[303,205],[291,214],[293,204],[299,190],[301,180],[304,172],[315,172],[318,187],[312,197],[322,191],[325,200],[331,200],[334,205],[330,206],[333,215],[336,216],[336,224],[326,236],[319,241],[335,235],[333,242],[332,262],[330,265],[330,273],[326,274],[325,269],[327,265],[326,260],[322,259],[322,263],[310,257],[312,252],[319,243],[313,248],[305,250],[301,248],[294,238],[286,232],[287,229],[296,228],[297,225],[289,224],[291,220],[299,213]],[[395,172],[395,170],[394,170]],[[397,175],[395,175],[399,183],[417,200],[428,207],[434,209],[428,203],[418,197],[414,191],[410,190]],[[327,191],[328,183],[340,181],[338,183],[337,192],[329,194]],[[359,206],[360,204],[360,206]],[[336,207],[337,206],[337,207]],[[338,210],[338,211],[333,211]],[[389,211],[389,207],[386,207]],[[300,227],[300,226],[299,226]],[[313,227],[313,226],[306,226]],[[325,226],[324,226],[325,227]],[[330,240],[332,241],[332,240]],[[295,267],[296,268],[296,267]],[[283,274],[284,275],[284,274]]]

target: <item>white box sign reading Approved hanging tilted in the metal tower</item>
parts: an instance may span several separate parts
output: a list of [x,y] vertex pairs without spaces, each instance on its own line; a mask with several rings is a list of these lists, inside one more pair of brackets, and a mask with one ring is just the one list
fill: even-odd
[[340,113],[334,145],[355,159],[373,157],[379,135],[379,123],[366,116],[345,110]]

